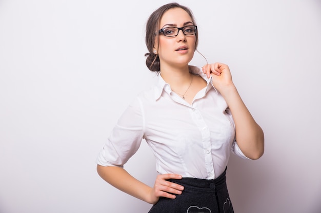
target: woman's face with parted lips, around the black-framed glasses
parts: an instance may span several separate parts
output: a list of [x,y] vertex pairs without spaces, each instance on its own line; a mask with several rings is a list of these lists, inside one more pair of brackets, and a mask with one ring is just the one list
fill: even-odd
[[[166,27],[185,27],[194,25],[192,18],[182,8],[172,8],[166,11],[160,19],[159,29]],[[194,56],[196,35],[184,35],[179,30],[178,35],[167,37],[159,33],[158,56],[160,68],[165,67],[182,67],[187,65]],[[154,45],[157,50],[157,39]]]

